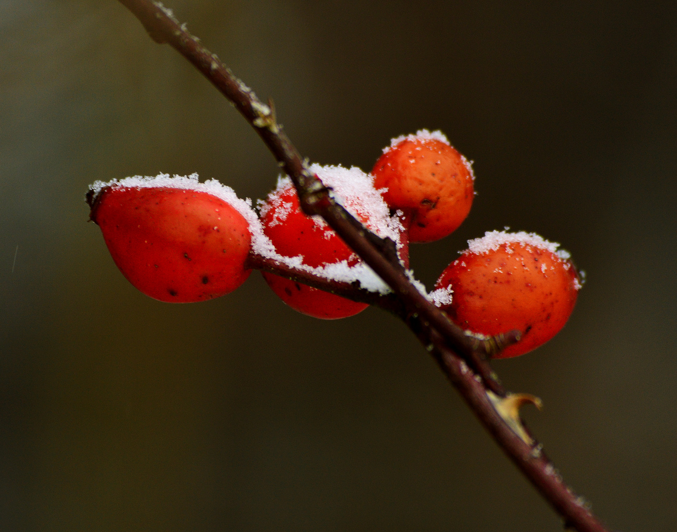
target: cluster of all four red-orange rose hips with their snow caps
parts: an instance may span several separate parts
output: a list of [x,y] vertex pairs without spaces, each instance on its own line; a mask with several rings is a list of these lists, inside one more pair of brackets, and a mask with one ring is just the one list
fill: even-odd
[[[371,174],[316,164],[310,170],[364,226],[395,241],[405,267],[408,243],[452,233],[475,195],[471,165],[439,131],[393,139]],[[160,301],[204,301],[230,293],[251,273],[251,253],[323,279],[387,291],[322,218],[301,212],[289,178],[280,178],[265,201],[259,200],[259,214],[230,187],[216,180],[199,183],[196,175],[97,181],[87,201],[118,268]],[[533,233],[504,231],[468,244],[428,295],[456,324],[482,335],[522,331],[502,357],[528,352],[564,326],[580,279],[557,244]],[[309,316],[345,318],[367,307],[283,276],[263,276],[288,306]]]

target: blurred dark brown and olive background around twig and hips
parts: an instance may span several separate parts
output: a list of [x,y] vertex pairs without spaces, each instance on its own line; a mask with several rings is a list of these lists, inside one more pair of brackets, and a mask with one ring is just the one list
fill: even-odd
[[[674,1],[167,3],[312,161],[369,170],[418,128],[475,160],[468,220],[412,250],[428,287],[504,226],[573,253],[569,324],[496,369],[611,529],[674,531]],[[313,320],[258,274],[204,304],[135,291],[89,183],[257,198],[273,158],[114,0],[0,0],[0,30],[0,529],[561,531],[383,312]]]

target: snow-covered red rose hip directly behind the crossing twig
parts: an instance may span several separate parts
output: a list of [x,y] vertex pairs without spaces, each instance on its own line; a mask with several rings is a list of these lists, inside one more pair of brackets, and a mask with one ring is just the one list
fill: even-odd
[[[339,201],[361,222],[380,236],[398,241],[397,220],[389,217],[388,207],[370,176],[359,168],[317,164],[311,166],[311,171],[332,187]],[[322,218],[303,214],[288,178],[280,179],[278,188],[261,202],[261,222],[263,233],[275,247],[276,259],[326,279],[360,281],[363,288],[369,288],[364,279],[359,279],[364,264]],[[263,277],[288,306],[315,318],[346,318],[368,306],[267,272]]]

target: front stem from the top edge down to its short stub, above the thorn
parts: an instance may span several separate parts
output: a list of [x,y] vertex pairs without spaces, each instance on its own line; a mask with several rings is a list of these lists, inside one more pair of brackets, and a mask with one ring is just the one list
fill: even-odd
[[159,43],[169,43],[188,59],[214,86],[221,91],[249,122],[278,164],[292,179],[299,193],[301,208],[306,214],[318,214],[329,226],[368,264],[378,276],[393,289],[410,314],[422,316],[461,354],[471,367],[485,379],[487,387],[502,395],[504,390],[492,378],[485,358],[497,349],[516,341],[519,333],[508,333],[497,343],[493,339],[477,341],[468,337],[444,312],[431,304],[412,285],[406,271],[397,260],[397,251],[392,241],[381,239],[364,228],[345,208],[336,203],[322,181],[309,172],[297,149],[282,131],[269,105],[262,103],[257,95],[234,76],[217,57],[200,44],[174,18],[169,9],[160,2],[150,0],[120,0],[139,18],[151,37]]

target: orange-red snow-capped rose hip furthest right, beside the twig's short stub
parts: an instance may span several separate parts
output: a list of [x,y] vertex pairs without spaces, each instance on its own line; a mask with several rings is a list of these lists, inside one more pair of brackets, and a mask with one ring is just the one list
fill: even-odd
[[581,285],[559,244],[533,233],[493,231],[468,245],[435,285],[437,298],[453,291],[441,308],[456,324],[483,335],[521,331],[521,340],[498,358],[536,349],[564,327]]

